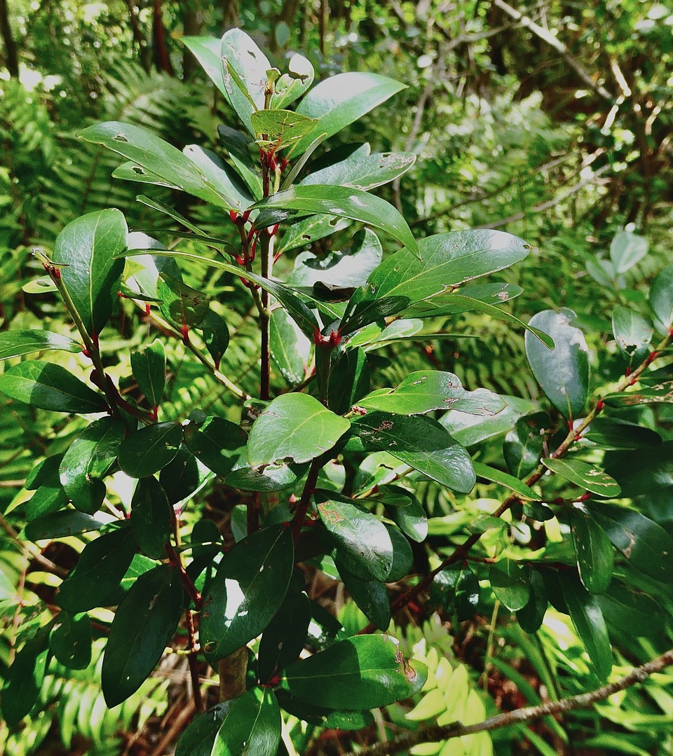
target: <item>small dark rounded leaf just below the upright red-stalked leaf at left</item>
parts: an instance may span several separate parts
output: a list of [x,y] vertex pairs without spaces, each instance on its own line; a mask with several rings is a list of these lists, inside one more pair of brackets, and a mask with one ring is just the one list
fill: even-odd
[[165,467],[182,443],[176,423],[156,423],[132,433],[119,445],[119,467],[132,478],[147,478]]

